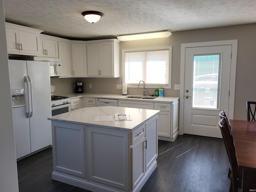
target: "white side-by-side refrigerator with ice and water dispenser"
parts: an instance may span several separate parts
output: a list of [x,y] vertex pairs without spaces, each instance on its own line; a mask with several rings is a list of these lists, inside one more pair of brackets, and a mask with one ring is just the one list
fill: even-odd
[[16,158],[52,145],[49,63],[9,60]]

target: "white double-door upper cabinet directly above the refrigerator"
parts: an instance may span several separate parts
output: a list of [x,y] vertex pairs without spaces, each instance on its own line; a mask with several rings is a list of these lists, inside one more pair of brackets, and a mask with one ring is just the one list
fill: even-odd
[[5,24],[8,54],[40,56],[39,34],[43,32],[42,30]]

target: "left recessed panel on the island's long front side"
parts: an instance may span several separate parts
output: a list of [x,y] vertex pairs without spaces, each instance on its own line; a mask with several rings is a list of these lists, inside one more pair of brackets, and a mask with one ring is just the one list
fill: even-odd
[[84,126],[52,122],[54,172],[86,178]]

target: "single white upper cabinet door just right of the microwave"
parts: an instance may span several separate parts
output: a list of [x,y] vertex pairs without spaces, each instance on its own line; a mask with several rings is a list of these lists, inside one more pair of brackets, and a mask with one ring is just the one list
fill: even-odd
[[61,60],[61,77],[72,76],[72,48],[70,43],[58,42],[59,58]]

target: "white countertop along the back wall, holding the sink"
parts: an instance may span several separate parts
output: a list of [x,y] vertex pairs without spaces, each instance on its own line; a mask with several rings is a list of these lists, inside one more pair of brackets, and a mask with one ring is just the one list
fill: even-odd
[[[61,96],[66,96],[70,98],[90,97],[90,98],[136,100],[136,101],[142,101],[142,102],[175,102],[180,99],[178,97],[157,97],[155,99],[137,99],[137,98],[127,98],[128,96],[135,96],[135,95],[101,94],[101,93],[71,93],[71,94],[63,94]],[[136,95],[136,96],[141,96],[141,95]]]

